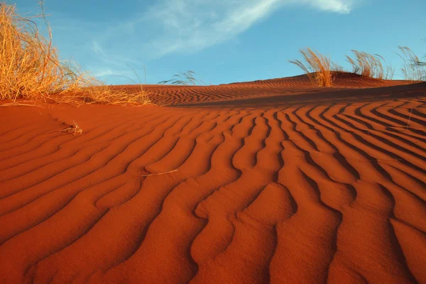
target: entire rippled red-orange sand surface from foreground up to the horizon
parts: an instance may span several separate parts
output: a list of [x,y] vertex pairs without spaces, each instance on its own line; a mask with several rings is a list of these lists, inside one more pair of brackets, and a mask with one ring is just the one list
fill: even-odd
[[0,283],[426,283],[426,84],[337,83],[0,108]]

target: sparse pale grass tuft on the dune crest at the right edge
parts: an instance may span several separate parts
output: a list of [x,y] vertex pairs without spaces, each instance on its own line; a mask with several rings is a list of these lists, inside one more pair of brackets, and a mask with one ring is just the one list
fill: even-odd
[[404,61],[401,72],[403,73],[404,80],[409,81],[425,81],[426,70],[422,66],[420,59],[413,53],[413,50],[406,46],[398,46],[400,53],[398,56]]

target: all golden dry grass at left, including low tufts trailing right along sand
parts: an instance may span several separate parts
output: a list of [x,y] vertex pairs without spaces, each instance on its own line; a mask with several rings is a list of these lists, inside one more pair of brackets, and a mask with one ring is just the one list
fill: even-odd
[[[82,72],[70,61],[60,60],[53,47],[52,30],[45,18],[43,1],[38,16],[21,16],[16,6],[0,3],[0,99],[51,98],[67,103],[147,104],[141,87],[138,94],[112,91]],[[48,38],[40,34],[35,18],[41,18]]]

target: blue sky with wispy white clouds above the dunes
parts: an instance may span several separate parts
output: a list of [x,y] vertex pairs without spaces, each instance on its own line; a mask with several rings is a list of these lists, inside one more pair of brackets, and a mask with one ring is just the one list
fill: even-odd
[[[13,1],[38,13],[38,0]],[[119,4],[118,4],[119,3]],[[426,55],[425,0],[45,0],[53,43],[107,84],[156,84],[193,70],[207,84],[301,74],[288,60],[310,47],[349,67],[351,50],[395,67],[407,45]]]

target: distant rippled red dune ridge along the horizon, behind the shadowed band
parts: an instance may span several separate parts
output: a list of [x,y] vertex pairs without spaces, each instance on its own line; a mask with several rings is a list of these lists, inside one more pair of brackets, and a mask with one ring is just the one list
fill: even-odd
[[[408,84],[400,80],[378,80],[364,78],[348,72],[338,72],[333,87],[312,87],[307,75],[285,77],[253,82],[237,82],[210,86],[144,85],[154,104],[173,106],[182,104],[200,104],[204,102],[229,101],[236,99],[264,97],[288,97],[300,94],[327,94],[331,91],[348,89],[378,88]],[[137,93],[140,88],[135,85],[114,86],[124,92]],[[405,92],[405,91],[404,91]],[[380,93],[380,92],[378,92]],[[318,95],[317,97],[321,97]],[[337,96],[335,95],[334,98]]]

